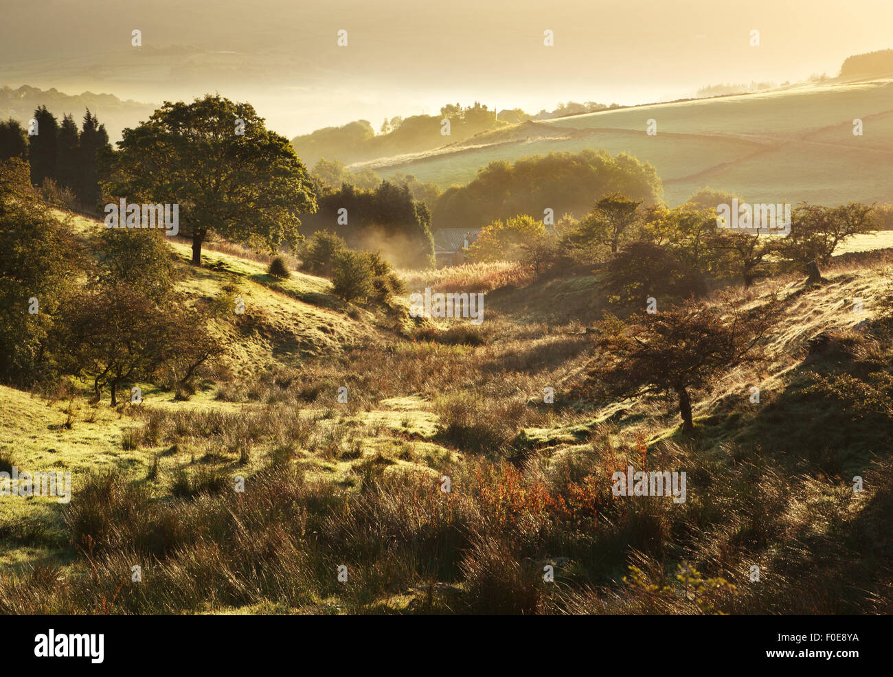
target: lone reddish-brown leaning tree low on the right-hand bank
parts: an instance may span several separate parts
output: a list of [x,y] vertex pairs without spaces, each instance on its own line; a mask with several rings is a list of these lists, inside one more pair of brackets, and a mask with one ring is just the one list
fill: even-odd
[[749,310],[738,301],[689,303],[632,322],[608,316],[597,328],[597,358],[577,392],[606,399],[641,395],[675,397],[683,432],[694,430],[691,391],[722,374],[758,364],[777,315],[774,300]]

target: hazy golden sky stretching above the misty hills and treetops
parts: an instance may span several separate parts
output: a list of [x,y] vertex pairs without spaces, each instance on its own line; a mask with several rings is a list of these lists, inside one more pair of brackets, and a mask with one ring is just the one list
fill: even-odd
[[288,136],[447,102],[536,113],[836,75],[893,47],[893,0],[29,0],[2,16],[0,84],[156,103],[219,91]]

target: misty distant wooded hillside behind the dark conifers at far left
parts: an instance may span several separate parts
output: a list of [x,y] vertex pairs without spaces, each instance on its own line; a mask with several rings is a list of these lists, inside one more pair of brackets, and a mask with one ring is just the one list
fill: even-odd
[[156,107],[154,104],[122,101],[111,94],[84,92],[72,96],[56,88],[38,89],[27,85],[17,89],[0,88],[0,120],[13,118],[27,127],[34,109],[40,105],[46,105],[59,120],[65,113],[71,113],[75,120],[80,121],[89,108],[105,125],[112,141],[121,138],[121,130],[125,127],[135,127],[146,120]]

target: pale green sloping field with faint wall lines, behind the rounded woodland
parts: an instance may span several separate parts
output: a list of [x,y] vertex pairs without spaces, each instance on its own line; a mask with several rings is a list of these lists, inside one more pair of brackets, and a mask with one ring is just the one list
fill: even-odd
[[[753,202],[889,202],[891,93],[893,82],[879,80],[588,113],[528,123],[515,138],[484,134],[411,162],[374,165],[447,188],[493,160],[605,148],[653,163],[672,204],[705,185]],[[864,121],[862,137],[853,135],[855,118]],[[653,137],[645,133],[649,119],[657,121]]]

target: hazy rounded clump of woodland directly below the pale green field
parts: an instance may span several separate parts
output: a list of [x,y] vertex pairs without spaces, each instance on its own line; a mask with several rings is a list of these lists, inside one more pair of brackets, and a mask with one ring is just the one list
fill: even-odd
[[532,155],[508,163],[489,163],[466,186],[448,188],[434,207],[438,228],[483,228],[516,214],[542,218],[551,209],[581,216],[595,200],[619,192],[646,204],[658,202],[663,186],[650,163],[632,155],[611,156],[604,150]]

